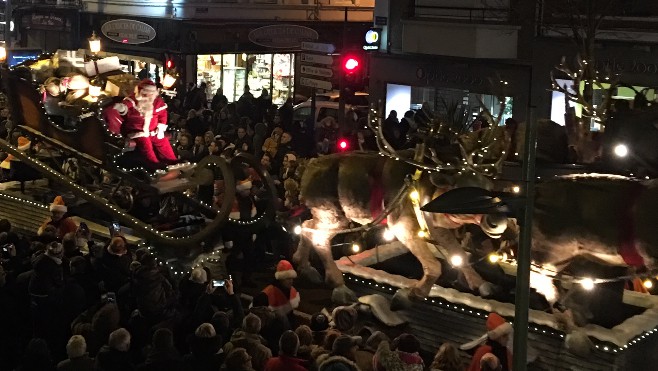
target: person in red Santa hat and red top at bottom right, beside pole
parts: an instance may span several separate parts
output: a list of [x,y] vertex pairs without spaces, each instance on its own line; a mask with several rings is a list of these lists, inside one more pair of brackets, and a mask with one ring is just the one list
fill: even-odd
[[477,347],[468,371],[479,370],[480,361],[487,353],[491,353],[498,358],[501,370],[511,370],[512,352],[507,348],[507,343],[511,339],[512,332],[512,325],[505,321],[503,317],[497,313],[489,313],[487,316],[487,333],[460,347],[462,350],[470,350]]

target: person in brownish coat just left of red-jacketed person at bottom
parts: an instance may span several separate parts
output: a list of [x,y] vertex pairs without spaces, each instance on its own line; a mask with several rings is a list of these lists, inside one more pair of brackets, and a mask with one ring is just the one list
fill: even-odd
[[231,340],[224,345],[224,352],[230,354],[233,349],[244,348],[251,357],[253,368],[262,370],[272,358],[272,351],[267,347],[267,341],[259,335],[260,330],[260,318],[255,314],[246,315],[242,328],[233,332]]

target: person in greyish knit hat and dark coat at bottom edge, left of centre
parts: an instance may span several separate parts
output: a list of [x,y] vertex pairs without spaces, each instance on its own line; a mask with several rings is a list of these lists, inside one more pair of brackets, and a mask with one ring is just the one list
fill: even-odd
[[189,338],[190,353],[183,357],[190,370],[217,371],[226,354],[221,352],[222,337],[210,323],[202,323]]

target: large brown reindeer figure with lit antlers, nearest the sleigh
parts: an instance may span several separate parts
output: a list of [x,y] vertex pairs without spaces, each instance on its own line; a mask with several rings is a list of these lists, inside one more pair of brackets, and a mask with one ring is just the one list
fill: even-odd
[[[502,112],[502,110],[501,110]],[[489,116],[490,117],[490,116]],[[434,122],[426,139],[440,131]],[[445,127],[445,126],[444,126]],[[384,218],[397,239],[419,260],[423,277],[414,287],[399,290],[392,309],[404,307],[411,298],[426,297],[441,275],[441,264],[427,244],[431,238],[448,255],[464,256],[464,251],[450,231],[467,223],[478,224],[485,233],[498,237],[504,220],[490,215],[447,215],[423,213],[418,205],[429,202],[454,186],[492,188],[489,176],[502,164],[506,141],[502,127],[491,125],[454,138],[449,151],[437,154],[430,141],[417,145],[414,151],[392,150],[379,125],[372,127],[381,152],[352,152],[322,156],[312,160],[301,180],[301,201],[310,209],[312,219],[302,224],[299,247],[293,256],[302,275],[316,276],[309,263],[310,250],[319,255],[325,268],[325,281],[334,288],[337,303],[356,300],[345,286],[342,272],[331,252],[331,239],[349,230],[351,222],[378,224]],[[461,156],[460,156],[461,155]],[[427,160],[431,162],[427,162]],[[484,281],[470,267],[462,273],[471,289],[479,289]]]

